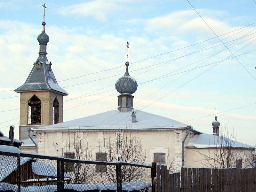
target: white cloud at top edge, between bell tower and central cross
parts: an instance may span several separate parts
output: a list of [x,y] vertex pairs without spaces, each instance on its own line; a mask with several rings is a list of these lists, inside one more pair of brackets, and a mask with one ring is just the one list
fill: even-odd
[[106,21],[108,14],[113,10],[119,10],[120,5],[115,1],[96,0],[88,3],[73,4],[68,7],[61,7],[60,13],[66,15],[92,16],[97,20]]

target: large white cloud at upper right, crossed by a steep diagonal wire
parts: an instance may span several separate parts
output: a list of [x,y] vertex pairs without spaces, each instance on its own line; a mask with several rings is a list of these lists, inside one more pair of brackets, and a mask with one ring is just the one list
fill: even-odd
[[[202,13],[203,19],[213,30],[218,31],[218,34],[234,29],[224,21],[217,19],[218,16],[225,15],[225,12],[207,9],[200,9],[197,11]],[[208,26],[194,10],[172,12],[164,16],[148,19],[146,21],[145,30],[151,31],[152,33],[169,33],[170,35],[191,34],[192,36],[197,34],[198,36],[204,36],[205,34],[210,34],[214,36]]]

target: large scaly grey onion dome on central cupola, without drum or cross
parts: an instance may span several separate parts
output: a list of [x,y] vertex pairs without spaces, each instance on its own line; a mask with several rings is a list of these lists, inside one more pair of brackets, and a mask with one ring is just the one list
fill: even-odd
[[[126,62],[125,65],[128,67],[129,62]],[[116,81],[116,90],[121,94],[122,93],[132,94],[137,90],[137,87],[138,87],[138,84],[136,80],[129,75],[128,68],[126,68],[126,72],[124,76],[120,77]]]

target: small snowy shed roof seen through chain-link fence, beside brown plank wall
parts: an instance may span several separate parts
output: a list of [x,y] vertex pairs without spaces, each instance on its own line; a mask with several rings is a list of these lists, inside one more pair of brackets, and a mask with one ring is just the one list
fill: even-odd
[[[32,162],[32,172],[37,175],[57,177],[57,169],[40,161]],[[71,178],[71,176],[64,172],[64,177]]]

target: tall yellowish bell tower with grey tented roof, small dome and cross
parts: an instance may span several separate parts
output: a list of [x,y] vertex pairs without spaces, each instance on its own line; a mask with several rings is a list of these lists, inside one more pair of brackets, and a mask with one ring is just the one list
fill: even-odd
[[[44,15],[45,15],[45,4]],[[15,92],[20,93],[19,139],[28,139],[28,130],[63,121],[63,96],[68,93],[62,89],[53,74],[52,63],[46,57],[46,46],[50,38],[43,31],[37,37],[39,56],[28,75],[26,82]],[[36,138],[36,136],[32,136]]]

